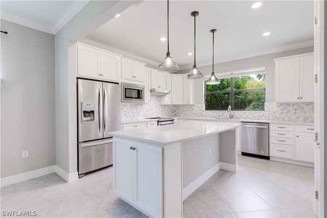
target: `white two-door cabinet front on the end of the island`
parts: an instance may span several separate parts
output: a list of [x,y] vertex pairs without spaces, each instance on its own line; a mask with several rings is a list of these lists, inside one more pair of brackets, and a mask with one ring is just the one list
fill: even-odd
[[114,139],[113,167],[113,191],[148,215],[162,217],[162,148]]

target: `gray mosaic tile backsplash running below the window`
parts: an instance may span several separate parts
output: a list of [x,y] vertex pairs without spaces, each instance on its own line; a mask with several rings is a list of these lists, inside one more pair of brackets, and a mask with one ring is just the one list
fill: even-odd
[[[145,105],[122,104],[122,120],[141,117],[211,117],[228,118],[227,111],[205,111],[197,105],[159,105],[159,98],[151,96]],[[268,119],[278,121],[313,122],[314,103],[265,103],[265,111],[232,111],[236,119]]]

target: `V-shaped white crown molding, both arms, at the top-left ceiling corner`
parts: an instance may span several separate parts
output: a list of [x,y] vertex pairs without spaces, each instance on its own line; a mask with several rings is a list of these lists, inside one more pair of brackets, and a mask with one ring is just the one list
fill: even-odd
[[89,1],[90,0],[73,1],[73,3],[69,5],[63,13],[61,13],[52,26],[45,25],[44,23],[3,10],[1,10],[1,19],[54,35],[63,26],[65,26],[65,24],[71,20]]

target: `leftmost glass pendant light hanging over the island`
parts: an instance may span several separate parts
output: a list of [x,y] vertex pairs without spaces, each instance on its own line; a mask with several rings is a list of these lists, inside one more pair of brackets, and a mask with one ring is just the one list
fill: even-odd
[[160,72],[177,72],[179,70],[179,65],[176,61],[174,61],[174,59],[170,56],[170,52],[169,52],[169,0],[167,0],[167,47],[168,47],[168,51],[165,57],[165,60],[162,61],[159,64],[158,70]]

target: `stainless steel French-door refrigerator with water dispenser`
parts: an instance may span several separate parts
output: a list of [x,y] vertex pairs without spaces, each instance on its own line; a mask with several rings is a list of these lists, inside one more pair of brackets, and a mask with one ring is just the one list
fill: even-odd
[[78,174],[112,165],[112,136],[121,130],[120,85],[77,80]]

